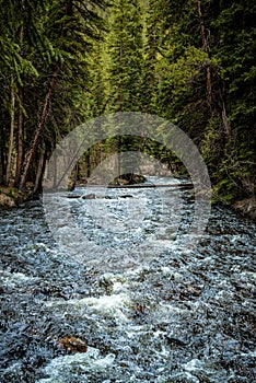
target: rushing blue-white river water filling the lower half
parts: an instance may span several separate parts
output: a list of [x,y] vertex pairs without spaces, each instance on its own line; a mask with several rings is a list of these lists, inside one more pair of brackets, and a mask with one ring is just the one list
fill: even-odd
[[187,252],[191,190],[91,192],[56,200],[84,257],[55,242],[40,201],[0,211],[0,382],[255,382],[255,224],[214,207]]

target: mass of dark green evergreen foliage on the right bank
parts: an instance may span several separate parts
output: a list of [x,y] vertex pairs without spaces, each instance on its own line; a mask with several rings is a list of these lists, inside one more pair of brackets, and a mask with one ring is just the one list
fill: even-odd
[[230,204],[253,196],[255,3],[153,3],[154,15],[161,20],[154,67],[155,113],[175,123],[199,146],[217,199]]

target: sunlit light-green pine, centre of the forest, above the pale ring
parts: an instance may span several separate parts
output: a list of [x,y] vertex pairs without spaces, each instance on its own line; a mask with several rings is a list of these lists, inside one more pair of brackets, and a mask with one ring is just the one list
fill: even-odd
[[108,111],[141,109],[142,21],[138,0],[117,0],[110,14],[108,36]]

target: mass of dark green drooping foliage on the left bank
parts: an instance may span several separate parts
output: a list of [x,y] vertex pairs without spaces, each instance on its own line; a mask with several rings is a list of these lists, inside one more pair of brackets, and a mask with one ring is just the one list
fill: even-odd
[[[24,161],[37,131],[40,138],[33,148],[28,174],[32,179],[36,177],[40,155],[48,158],[60,137],[89,114],[82,94],[89,83],[93,44],[100,39],[106,24],[100,15],[106,4],[107,0],[0,3],[0,82],[4,90],[0,96],[1,182],[7,169],[11,93],[14,92],[15,97],[12,175],[16,152],[19,155],[23,150]],[[58,78],[53,84],[55,77]],[[18,131],[22,134],[22,147],[18,142]]]

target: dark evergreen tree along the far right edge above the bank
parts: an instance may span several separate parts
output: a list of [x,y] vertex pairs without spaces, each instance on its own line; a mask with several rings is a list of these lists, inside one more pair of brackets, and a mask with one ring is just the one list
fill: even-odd
[[255,2],[236,0],[222,1],[212,22],[219,37],[214,54],[223,68],[223,97],[231,126],[224,155],[214,176],[218,194],[228,201],[255,196]]

